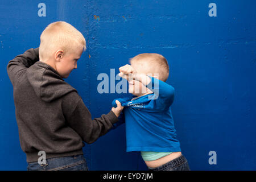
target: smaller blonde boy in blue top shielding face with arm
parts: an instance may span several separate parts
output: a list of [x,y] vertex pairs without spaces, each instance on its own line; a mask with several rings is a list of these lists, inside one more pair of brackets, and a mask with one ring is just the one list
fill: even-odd
[[134,95],[118,98],[125,106],[119,119],[126,123],[126,151],[140,151],[152,170],[189,170],[176,138],[171,113],[174,88],[165,82],[167,60],[157,53],[142,53],[130,64],[119,68],[119,76],[128,80],[129,93]]

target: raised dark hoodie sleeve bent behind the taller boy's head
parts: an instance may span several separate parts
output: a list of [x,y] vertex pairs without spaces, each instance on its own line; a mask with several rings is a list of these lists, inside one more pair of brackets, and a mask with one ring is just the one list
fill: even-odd
[[7,73],[12,84],[18,79],[20,73],[33,65],[36,61],[39,61],[39,48],[28,49],[22,55],[18,55],[13,60],[9,61]]

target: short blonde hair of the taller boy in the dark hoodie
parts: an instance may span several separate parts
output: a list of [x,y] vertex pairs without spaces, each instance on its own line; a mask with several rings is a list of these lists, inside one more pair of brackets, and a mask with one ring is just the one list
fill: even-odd
[[58,49],[66,54],[80,47],[85,51],[86,42],[80,31],[67,22],[53,22],[40,36],[39,57],[40,60],[49,59]]

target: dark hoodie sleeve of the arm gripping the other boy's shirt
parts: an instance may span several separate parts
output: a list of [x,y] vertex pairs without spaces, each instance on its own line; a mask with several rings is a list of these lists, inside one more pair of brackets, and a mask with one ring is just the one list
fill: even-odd
[[[77,93],[73,92],[69,95],[74,96],[74,94]],[[72,103],[69,102],[69,105],[70,104]],[[86,143],[95,142],[113,127],[113,123],[118,122],[118,118],[113,111],[110,111],[108,114],[102,114],[100,118],[92,119],[92,115],[81,97],[75,109],[73,109],[73,111],[66,109],[64,114],[68,125],[75,130]]]

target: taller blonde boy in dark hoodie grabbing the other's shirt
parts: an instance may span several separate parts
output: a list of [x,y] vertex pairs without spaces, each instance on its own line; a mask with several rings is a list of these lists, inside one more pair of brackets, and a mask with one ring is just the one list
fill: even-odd
[[[28,170],[86,170],[83,141],[93,143],[118,121],[119,102],[92,120],[77,90],[63,80],[77,68],[85,49],[81,32],[54,22],[42,32],[39,48],[28,49],[7,65]],[[45,159],[38,160],[38,154]]]

